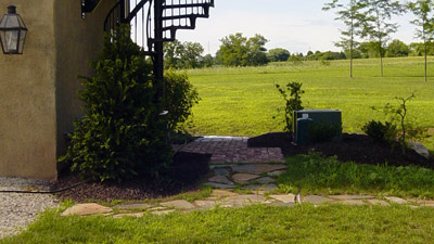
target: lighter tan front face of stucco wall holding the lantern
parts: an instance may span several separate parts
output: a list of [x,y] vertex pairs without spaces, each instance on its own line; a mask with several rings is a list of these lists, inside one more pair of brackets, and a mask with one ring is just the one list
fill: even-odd
[[53,1],[0,1],[1,16],[14,4],[29,29],[23,55],[0,53],[0,176],[56,175]]

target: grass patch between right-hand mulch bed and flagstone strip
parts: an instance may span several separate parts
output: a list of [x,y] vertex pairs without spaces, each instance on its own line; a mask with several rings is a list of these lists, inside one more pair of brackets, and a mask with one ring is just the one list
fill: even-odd
[[308,194],[372,194],[434,198],[434,170],[342,163],[319,154],[288,159],[288,170],[278,179],[279,191]]

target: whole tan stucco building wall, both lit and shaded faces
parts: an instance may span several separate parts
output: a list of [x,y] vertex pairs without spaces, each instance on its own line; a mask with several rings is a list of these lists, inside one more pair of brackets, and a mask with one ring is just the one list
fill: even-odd
[[115,0],[81,20],[79,0],[0,1],[28,28],[23,55],[0,53],[0,177],[56,179],[63,133],[81,114],[78,75],[90,75]]

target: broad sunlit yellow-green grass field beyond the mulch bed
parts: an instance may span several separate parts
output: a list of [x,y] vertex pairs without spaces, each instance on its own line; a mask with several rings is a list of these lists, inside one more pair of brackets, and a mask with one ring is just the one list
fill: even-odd
[[[423,77],[422,57],[385,59],[385,76],[380,77],[379,60],[356,60],[355,78],[349,78],[348,61],[271,63],[264,67],[206,68],[189,70],[202,101],[194,107],[194,133],[258,136],[281,131],[277,108],[283,102],[275,84],[303,82],[306,108],[335,108],[343,112],[346,132],[360,132],[365,123],[385,117],[371,106],[395,103],[395,97],[416,99],[409,116],[420,127],[434,127],[434,57],[429,59],[429,81]],[[433,139],[425,143],[433,149]]]

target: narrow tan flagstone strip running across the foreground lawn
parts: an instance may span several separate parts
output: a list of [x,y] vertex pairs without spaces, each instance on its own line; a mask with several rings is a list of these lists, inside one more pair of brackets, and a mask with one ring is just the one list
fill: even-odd
[[301,200],[298,201],[297,196],[294,194],[267,194],[266,191],[256,191],[253,194],[239,194],[228,190],[214,190],[208,197],[193,202],[188,202],[186,200],[174,200],[153,204],[120,204],[112,208],[94,203],[77,204],[66,209],[62,216],[102,215],[113,218],[140,218],[144,216],[144,214],[166,215],[174,211],[189,213],[192,210],[205,210],[209,208],[239,208],[253,204],[281,207],[291,207],[297,204],[314,204],[316,206],[322,204],[343,204],[350,206],[391,206],[393,204],[399,204],[407,205],[412,208],[434,208],[434,201],[404,200],[399,197],[378,198],[371,195],[307,195],[301,196]]

